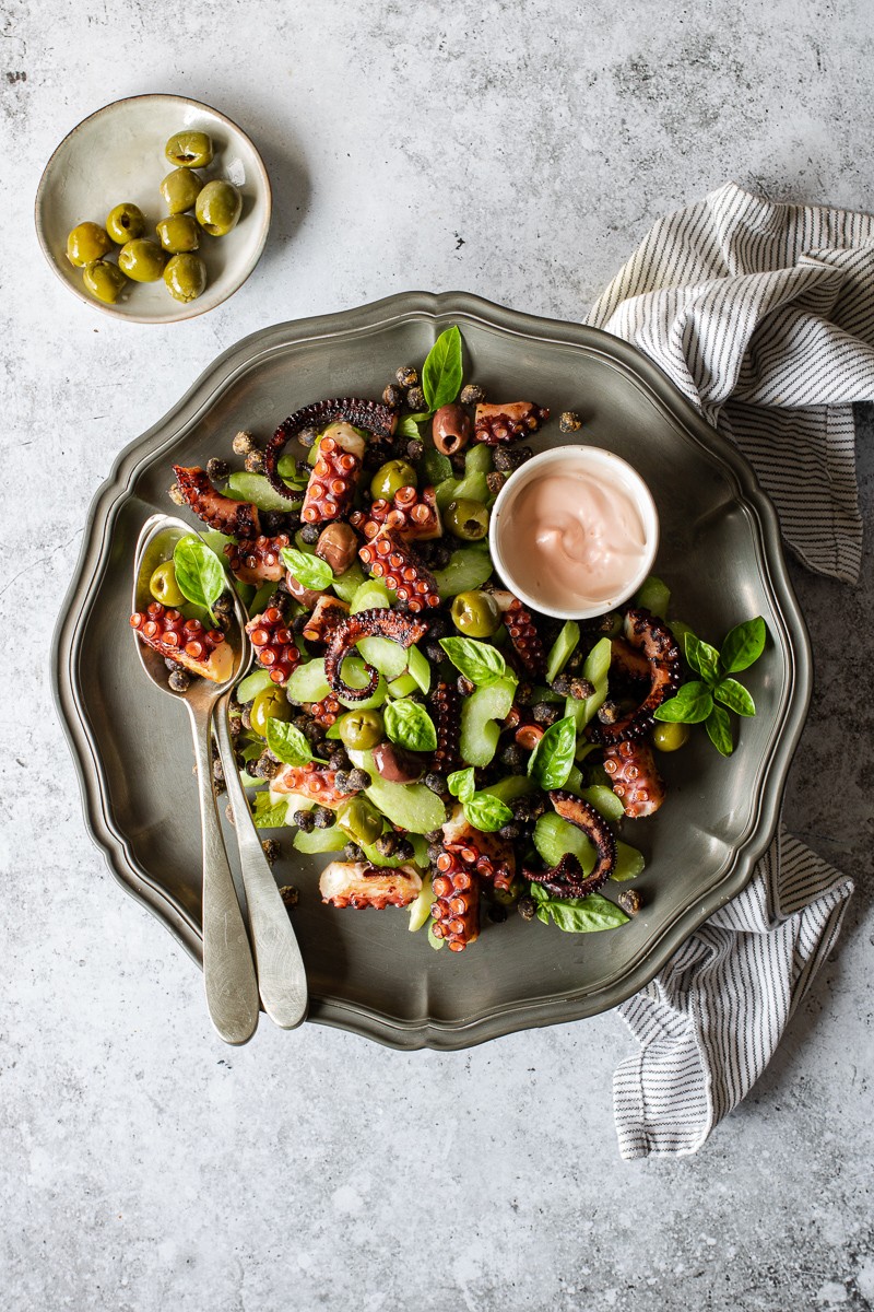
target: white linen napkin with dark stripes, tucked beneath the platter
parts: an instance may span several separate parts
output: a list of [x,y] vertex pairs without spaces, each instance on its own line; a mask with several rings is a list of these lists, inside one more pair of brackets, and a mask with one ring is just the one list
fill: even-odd
[[[874,400],[874,216],[734,182],[650,230],[587,323],[732,438],[810,569],[858,579],[852,403]],[[747,1096],[840,932],[852,882],[781,830],[747,888],[620,1008],[625,1158],[687,1156]]]

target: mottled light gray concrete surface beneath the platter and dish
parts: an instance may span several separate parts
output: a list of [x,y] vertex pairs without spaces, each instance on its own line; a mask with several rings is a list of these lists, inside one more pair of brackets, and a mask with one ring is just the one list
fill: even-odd
[[[117,450],[266,324],[408,287],[579,319],[650,222],[729,177],[874,206],[871,5],[12,0],[0,26],[0,1305],[874,1307],[871,615],[793,571],[816,694],[786,819],[858,892],[774,1061],[694,1158],[622,1164],[615,1015],[468,1054],[263,1025],[202,984],[85,833],[48,651]],[[228,304],[118,325],[43,265],[45,160],[119,96],[245,125],[275,185]],[[870,415],[860,458],[870,527]]]

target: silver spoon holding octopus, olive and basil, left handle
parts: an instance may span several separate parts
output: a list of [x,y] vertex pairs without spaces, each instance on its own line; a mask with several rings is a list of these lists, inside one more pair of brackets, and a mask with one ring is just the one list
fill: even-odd
[[[186,523],[170,516],[156,514],[145,521],[136,543],[135,611],[145,611],[153,601],[148,586],[152,573],[159,564],[172,558],[178,539],[190,533]],[[166,666],[159,652],[147,647],[136,635],[134,642],[143,669],[152,682],[181,701],[191,718],[203,837],[203,979],[207,1006],[212,1023],[225,1043],[246,1043],[258,1026],[258,984],[212,792],[210,728],[216,702],[244,672],[242,630],[240,625],[232,626],[225,638],[235,657],[229,677],[221,684],[195,678],[185,694],[173,693],[168,686]]]

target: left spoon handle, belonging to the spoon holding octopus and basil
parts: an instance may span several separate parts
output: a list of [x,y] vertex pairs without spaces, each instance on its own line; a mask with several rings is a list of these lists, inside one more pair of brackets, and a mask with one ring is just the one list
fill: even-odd
[[224,850],[212,792],[210,714],[190,703],[203,837],[203,980],[210,1018],[225,1043],[248,1043],[258,1026],[258,984],[246,926]]

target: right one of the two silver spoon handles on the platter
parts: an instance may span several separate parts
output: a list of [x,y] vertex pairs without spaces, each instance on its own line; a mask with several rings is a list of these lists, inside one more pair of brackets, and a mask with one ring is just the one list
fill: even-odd
[[242,884],[246,891],[249,926],[258,968],[258,988],[270,1019],[283,1030],[294,1030],[307,1015],[307,971],[288,912],[263,854],[258,830],[252,823],[249,803],[237,774],[228,729],[229,697],[229,693],[225,694],[216,706],[215,729],[225,786],[233,807]]

